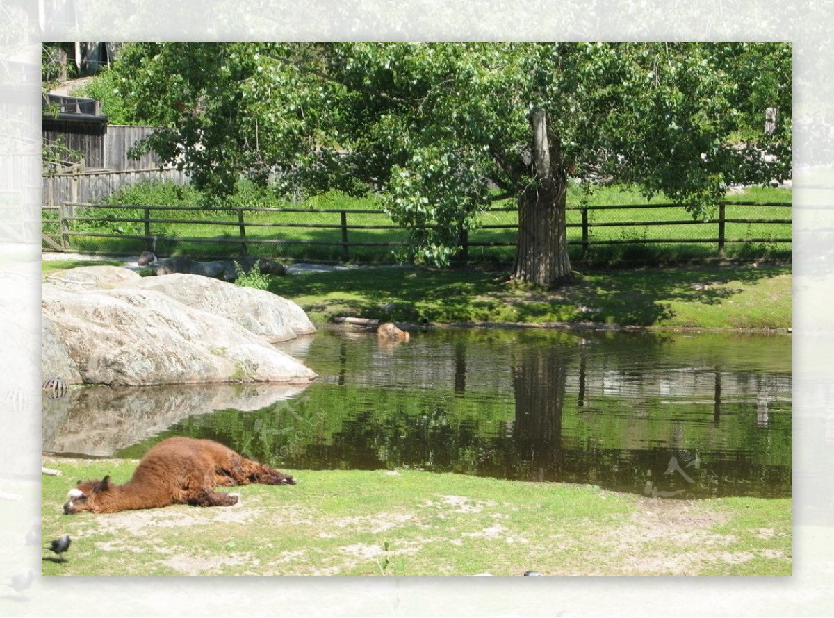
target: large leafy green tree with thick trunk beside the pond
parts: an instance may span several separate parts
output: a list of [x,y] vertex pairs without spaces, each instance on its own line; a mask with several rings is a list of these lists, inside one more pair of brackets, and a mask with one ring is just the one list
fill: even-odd
[[418,262],[448,263],[515,198],[513,277],[541,285],[571,274],[569,182],[636,183],[701,217],[791,169],[786,43],[142,43],[116,72],[166,127],[148,145],[212,194],[241,174],[378,191]]

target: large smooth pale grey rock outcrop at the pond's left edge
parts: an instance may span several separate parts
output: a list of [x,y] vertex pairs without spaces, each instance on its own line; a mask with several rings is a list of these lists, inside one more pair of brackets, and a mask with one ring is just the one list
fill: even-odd
[[[253,321],[254,330],[271,329],[271,339],[314,331],[312,324],[299,320],[297,311],[279,318],[274,307],[289,306],[289,301],[195,275],[160,277],[159,282],[168,279],[174,285],[154,289],[141,277],[124,272],[118,267],[76,268],[43,285],[43,376],[61,376],[70,384],[112,386],[307,383],[315,378],[309,368],[271,346],[262,332],[227,316],[227,311],[254,311],[259,317]],[[219,300],[210,302],[213,290]],[[279,326],[267,325],[264,312],[254,307],[256,302],[270,306],[273,312],[268,315],[280,321]]]

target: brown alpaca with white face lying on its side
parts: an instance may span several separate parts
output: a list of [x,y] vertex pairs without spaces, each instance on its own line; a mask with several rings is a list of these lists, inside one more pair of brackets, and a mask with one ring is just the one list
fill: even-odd
[[231,506],[238,496],[214,487],[249,483],[295,485],[295,480],[218,442],[174,437],[153,446],[124,485],[110,482],[109,475],[101,481],[78,481],[63,512],[115,513],[172,504]]

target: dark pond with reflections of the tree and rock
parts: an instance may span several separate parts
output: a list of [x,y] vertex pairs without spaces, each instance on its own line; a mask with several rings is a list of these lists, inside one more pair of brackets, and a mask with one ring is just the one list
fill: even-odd
[[139,457],[173,435],[304,469],[417,469],[651,496],[791,496],[791,336],[430,330],[282,344],[304,388],[44,397],[44,451]]

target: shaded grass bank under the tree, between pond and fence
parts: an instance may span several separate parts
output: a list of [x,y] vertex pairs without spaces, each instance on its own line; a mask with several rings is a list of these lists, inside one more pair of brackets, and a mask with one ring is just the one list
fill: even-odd
[[676,267],[585,272],[542,290],[513,285],[504,272],[376,268],[274,277],[269,290],[314,321],[776,329],[791,326],[791,281],[788,267]]

